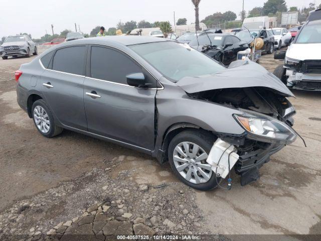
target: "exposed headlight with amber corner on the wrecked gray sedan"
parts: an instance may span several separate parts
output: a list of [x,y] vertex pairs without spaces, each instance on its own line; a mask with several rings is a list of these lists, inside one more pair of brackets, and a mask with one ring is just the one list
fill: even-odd
[[295,141],[295,132],[285,123],[268,115],[254,111],[244,111],[244,114],[234,114],[236,121],[247,131],[249,139],[289,144]]

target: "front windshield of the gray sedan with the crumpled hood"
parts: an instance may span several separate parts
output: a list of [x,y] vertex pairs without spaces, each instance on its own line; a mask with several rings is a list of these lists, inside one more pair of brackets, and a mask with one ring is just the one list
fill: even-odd
[[128,47],[173,82],[187,76],[214,74],[225,69],[187,44],[157,42]]

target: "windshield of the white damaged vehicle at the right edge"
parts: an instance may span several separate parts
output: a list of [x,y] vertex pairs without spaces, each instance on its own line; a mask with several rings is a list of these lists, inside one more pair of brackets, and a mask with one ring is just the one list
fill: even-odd
[[321,43],[321,20],[309,22],[307,25],[304,25],[295,43],[296,44]]

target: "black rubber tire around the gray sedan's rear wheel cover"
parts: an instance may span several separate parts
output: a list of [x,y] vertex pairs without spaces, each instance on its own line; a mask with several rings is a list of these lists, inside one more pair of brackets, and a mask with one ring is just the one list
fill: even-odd
[[[37,124],[36,124],[36,121],[35,121],[35,116],[34,116],[34,109],[35,109],[36,106],[41,106],[42,108],[44,108],[46,113],[47,113],[47,115],[48,115],[49,122],[50,122],[50,128],[49,128],[49,131],[47,133],[42,132],[37,127]],[[51,138],[51,137],[55,137],[55,136],[59,135],[60,133],[62,133],[63,129],[61,127],[58,127],[55,124],[55,120],[54,120],[53,114],[52,114],[50,108],[48,107],[48,105],[46,104],[46,102],[43,99],[38,99],[33,103],[32,112],[31,113],[32,113],[32,117],[33,117],[35,126],[36,126],[37,130],[41,133],[41,135],[43,135],[45,137],[48,137],[48,138]]]

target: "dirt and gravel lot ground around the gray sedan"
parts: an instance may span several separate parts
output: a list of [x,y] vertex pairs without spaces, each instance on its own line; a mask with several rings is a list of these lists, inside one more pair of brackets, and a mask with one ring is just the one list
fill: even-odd
[[[307,148],[297,139],[274,154],[258,182],[241,187],[232,175],[232,190],[201,192],[144,154],[70,131],[42,137],[16,100],[14,71],[32,59],[0,59],[0,240],[19,239],[7,234],[35,240],[47,232],[61,240],[68,234],[95,234],[92,240],[117,233],[321,234],[321,92],[294,91],[291,99],[294,128]],[[272,72],[279,63],[273,55],[261,59]]]

